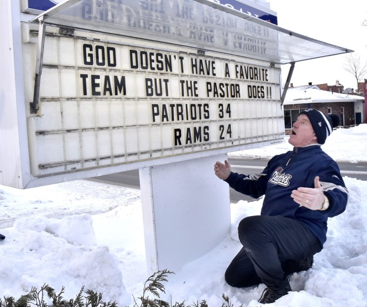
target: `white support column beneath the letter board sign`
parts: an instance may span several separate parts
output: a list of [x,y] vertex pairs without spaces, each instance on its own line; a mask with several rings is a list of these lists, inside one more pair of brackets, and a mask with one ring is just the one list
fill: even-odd
[[230,228],[229,187],[214,175],[226,154],[139,170],[148,274],[179,270]]

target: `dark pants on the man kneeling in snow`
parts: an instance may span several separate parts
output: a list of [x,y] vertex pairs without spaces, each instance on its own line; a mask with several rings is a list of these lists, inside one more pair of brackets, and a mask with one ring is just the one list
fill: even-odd
[[292,269],[293,261],[309,258],[322,249],[320,241],[299,221],[281,216],[242,219],[238,236],[243,247],[225,274],[227,283],[235,287],[261,282],[285,285],[286,275],[297,271]]

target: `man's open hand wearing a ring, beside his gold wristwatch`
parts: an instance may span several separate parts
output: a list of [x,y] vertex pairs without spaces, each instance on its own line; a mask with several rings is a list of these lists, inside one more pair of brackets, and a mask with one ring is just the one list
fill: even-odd
[[325,200],[325,196],[321,189],[320,177],[315,177],[315,188],[298,188],[293,190],[291,197],[300,206],[307,207],[311,210],[320,210],[322,208],[322,203]]

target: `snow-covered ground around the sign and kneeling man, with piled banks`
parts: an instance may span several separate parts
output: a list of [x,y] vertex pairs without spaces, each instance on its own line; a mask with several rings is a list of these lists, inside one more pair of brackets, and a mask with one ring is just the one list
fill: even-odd
[[[322,146],[336,161],[367,161],[367,124],[338,129]],[[287,143],[230,156],[270,158]],[[214,174],[213,174],[214,175]],[[367,306],[367,181],[344,177],[350,191],[346,211],[329,219],[328,239],[312,269],[295,273],[294,290],[271,306]],[[224,271],[240,249],[238,222],[259,214],[262,199],[231,204],[231,231],[203,257],[168,276],[161,298],[192,305],[257,306],[264,285],[233,288]],[[88,212],[89,214],[86,214]],[[105,301],[133,306],[147,277],[139,190],[77,180],[29,190],[0,186],[0,298],[19,298],[47,283],[64,298],[85,289]],[[203,239],[204,240],[204,239]]]

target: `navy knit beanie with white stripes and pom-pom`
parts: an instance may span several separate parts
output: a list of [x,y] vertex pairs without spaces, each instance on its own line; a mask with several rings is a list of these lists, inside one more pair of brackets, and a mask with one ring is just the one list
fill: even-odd
[[326,138],[333,132],[333,128],[339,125],[339,116],[336,114],[326,115],[316,109],[304,110],[299,114],[307,115],[319,144],[324,144]]

